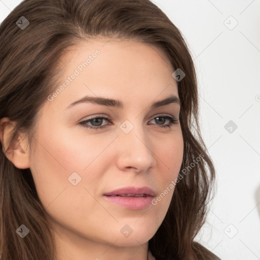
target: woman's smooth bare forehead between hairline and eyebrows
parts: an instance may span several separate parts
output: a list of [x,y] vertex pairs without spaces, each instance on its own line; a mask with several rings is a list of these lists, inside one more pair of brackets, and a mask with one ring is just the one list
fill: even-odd
[[59,101],[63,109],[85,95],[139,102],[145,102],[144,96],[153,101],[156,96],[161,100],[169,94],[178,95],[166,54],[134,40],[82,41],[68,48],[61,64],[61,80],[56,88],[63,87],[56,91],[55,103]]

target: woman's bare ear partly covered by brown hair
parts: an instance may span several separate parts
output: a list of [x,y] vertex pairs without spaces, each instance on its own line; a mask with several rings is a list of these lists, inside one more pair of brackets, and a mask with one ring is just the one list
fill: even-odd
[[8,141],[12,137],[12,131],[16,123],[8,117],[3,117],[0,120],[0,141],[2,143],[3,152],[6,157],[19,169],[27,169],[30,167],[29,153],[26,149],[27,142],[24,140],[24,135],[19,135],[15,138],[14,144],[7,150]]

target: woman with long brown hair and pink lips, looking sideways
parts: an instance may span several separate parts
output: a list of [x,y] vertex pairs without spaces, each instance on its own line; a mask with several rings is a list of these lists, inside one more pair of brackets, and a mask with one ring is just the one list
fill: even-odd
[[215,170],[169,18],[25,0],[0,28],[1,259],[219,259],[194,241]]

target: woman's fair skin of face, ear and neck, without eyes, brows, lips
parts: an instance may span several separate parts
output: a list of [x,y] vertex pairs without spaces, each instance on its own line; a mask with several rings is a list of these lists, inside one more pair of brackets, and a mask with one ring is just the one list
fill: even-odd
[[[108,202],[103,194],[125,186],[148,186],[157,197],[177,178],[183,157],[180,122],[164,128],[160,125],[170,121],[161,119],[160,124],[154,118],[163,114],[178,119],[180,105],[150,109],[152,102],[169,94],[178,96],[177,82],[169,60],[156,47],[106,38],[71,48],[61,58],[61,82],[95,49],[100,55],[53,101],[45,102],[34,153],[29,154],[21,134],[7,156],[16,167],[31,170],[39,198],[52,217],[57,260],[146,260],[148,241],[163,222],[174,189],[156,206],[141,210]],[[85,95],[118,99],[124,108],[88,102],[66,109]],[[109,116],[112,124],[103,119],[100,124],[107,127],[101,130],[79,124],[90,116]],[[125,120],[134,126],[128,134],[119,127]],[[13,125],[8,118],[1,120],[2,143]],[[73,172],[81,177],[76,186],[68,181]],[[126,224],[133,230],[128,237],[120,232]]]

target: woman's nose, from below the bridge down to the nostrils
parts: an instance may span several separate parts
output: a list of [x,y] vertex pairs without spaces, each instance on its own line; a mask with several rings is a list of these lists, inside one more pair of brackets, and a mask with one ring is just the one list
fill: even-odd
[[156,165],[149,137],[142,127],[131,132],[120,132],[117,167],[122,171],[147,172]]

